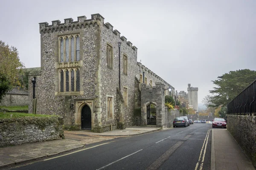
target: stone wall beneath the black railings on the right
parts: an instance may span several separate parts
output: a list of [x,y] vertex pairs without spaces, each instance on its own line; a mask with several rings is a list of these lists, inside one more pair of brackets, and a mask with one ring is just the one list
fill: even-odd
[[227,130],[256,167],[256,116],[227,115]]

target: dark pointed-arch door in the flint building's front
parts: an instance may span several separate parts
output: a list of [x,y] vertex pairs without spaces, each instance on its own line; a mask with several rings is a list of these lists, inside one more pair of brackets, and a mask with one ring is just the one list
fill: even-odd
[[81,129],[82,130],[92,129],[92,112],[88,105],[84,105],[81,111]]

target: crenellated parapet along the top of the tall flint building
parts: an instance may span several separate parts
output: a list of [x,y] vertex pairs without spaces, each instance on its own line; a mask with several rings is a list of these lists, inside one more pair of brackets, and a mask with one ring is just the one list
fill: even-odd
[[73,18],[64,19],[64,23],[61,23],[60,20],[52,21],[52,25],[49,23],[39,23],[39,32],[40,34],[53,33],[58,31],[73,31],[76,29],[86,28],[86,27],[97,27],[105,26],[110,29],[113,34],[116,34],[122,41],[124,41],[128,46],[130,46],[134,51],[137,51],[137,47],[133,46],[130,41],[127,41],[127,38],[124,36],[120,37],[120,32],[116,29],[113,30],[113,26],[110,23],[104,23],[104,17],[100,14],[91,14],[91,19],[87,20],[87,17],[80,16],[77,17],[77,21],[73,21]]

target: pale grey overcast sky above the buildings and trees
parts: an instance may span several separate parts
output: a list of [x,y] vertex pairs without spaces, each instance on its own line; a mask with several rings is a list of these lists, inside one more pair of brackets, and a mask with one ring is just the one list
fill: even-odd
[[0,0],[0,40],[40,67],[38,23],[96,13],[175,90],[198,87],[198,103],[218,76],[256,70],[256,0]]

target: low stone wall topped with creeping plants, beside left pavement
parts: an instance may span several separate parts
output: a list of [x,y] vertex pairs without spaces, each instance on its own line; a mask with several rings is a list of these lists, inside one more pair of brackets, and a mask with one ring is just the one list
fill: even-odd
[[0,147],[64,138],[62,117],[0,119]]

